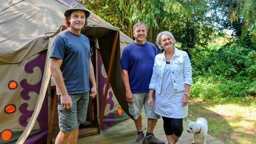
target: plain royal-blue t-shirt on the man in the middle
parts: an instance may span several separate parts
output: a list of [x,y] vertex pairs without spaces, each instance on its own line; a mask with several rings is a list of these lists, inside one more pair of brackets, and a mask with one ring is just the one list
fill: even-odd
[[153,73],[155,56],[159,51],[155,44],[148,41],[137,44],[134,41],[125,46],[121,67],[128,70],[132,93],[147,93]]

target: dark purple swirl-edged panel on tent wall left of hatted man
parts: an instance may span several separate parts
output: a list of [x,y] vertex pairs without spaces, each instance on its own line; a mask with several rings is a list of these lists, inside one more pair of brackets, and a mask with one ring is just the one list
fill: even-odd
[[[29,92],[35,92],[37,94],[39,94],[40,92],[42,76],[44,74],[44,68],[45,68],[46,54],[47,54],[47,50],[40,52],[36,58],[29,61],[25,65],[24,70],[26,71],[27,74],[33,74],[34,73],[33,68],[35,67],[39,67],[41,71],[41,78],[39,82],[37,82],[36,84],[29,84],[27,79],[23,79],[22,81],[20,81],[20,87],[23,88],[23,90],[20,92],[20,97],[25,101],[29,101],[31,99],[31,97],[29,96]],[[45,143],[47,141],[47,133],[48,133],[47,102],[48,101],[46,97],[42,104],[40,113],[36,119],[39,124],[39,133],[36,135],[29,136],[26,139],[25,143]],[[32,116],[34,112],[34,110],[28,110],[28,106],[29,106],[28,103],[23,103],[18,108],[19,112],[22,113],[18,119],[19,125],[22,127],[27,127],[28,119]]]

